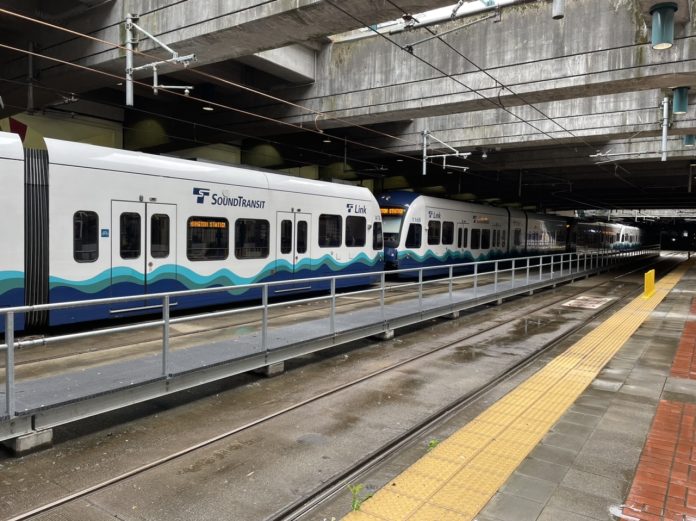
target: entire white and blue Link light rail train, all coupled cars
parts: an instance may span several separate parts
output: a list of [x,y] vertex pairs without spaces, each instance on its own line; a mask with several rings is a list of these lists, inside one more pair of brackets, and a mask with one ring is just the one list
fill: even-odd
[[[153,293],[274,282],[269,296],[365,286],[377,273],[583,249],[628,249],[640,230],[576,224],[413,192],[0,132],[0,307],[119,296],[32,312],[16,329],[157,312]],[[383,233],[384,232],[384,233]],[[258,299],[259,289],[174,298],[173,309]],[[0,332],[4,331],[0,324]]]

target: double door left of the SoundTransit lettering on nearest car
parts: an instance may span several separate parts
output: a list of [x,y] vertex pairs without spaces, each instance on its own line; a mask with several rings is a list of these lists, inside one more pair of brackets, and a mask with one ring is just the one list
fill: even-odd
[[[111,202],[111,296],[145,295],[177,289],[176,206]],[[112,304],[111,312],[144,311],[160,302]]]

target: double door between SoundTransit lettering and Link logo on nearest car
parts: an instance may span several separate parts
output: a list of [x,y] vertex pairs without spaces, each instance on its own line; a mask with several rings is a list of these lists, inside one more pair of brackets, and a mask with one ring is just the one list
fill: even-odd
[[281,274],[288,272],[290,279],[311,276],[309,263],[312,258],[312,248],[309,239],[312,221],[310,217],[308,213],[277,213],[276,271]]

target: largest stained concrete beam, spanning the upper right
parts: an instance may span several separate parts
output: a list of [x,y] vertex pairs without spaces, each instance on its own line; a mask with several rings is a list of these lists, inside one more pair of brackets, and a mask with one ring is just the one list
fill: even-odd
[[[444,23],[433,29],[462,26],[444,37],[451,47],[432,40],[414,47],[413,55],[403,48],[428,36],[425,29],[392,35],[394,44],[377,37],[334,44],[319,56],[312,87],[288,88],[279,96],[325,114],[321,126],[327,129],[696,85],[691,25],[677,28],[672,49],[655,51],[637,6],[615,4],[576,0],[560,22],[544,16],[546,5],[538,2],[503,9],[499,23]],[[315,120],[313,113],[287,106],[250,108],[296,124]]]

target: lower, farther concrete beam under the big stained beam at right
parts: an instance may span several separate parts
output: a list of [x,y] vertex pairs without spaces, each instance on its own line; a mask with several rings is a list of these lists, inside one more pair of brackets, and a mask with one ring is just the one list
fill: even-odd
[[[590,143],[660,135],[662,96],[659,90],[640,91],[511,107],[508,111],[495,109],[421,118],[400,126],[399,141],[380,137],[369,144],[390,152],[416,154],[422,150],[422,132],[428,130],[462,151],[570,143],[589,148],[586,152],[590,153],[594,151]],[[696,133],[696,104],[691,104],[686,114],[673,119],[670,133]]]

